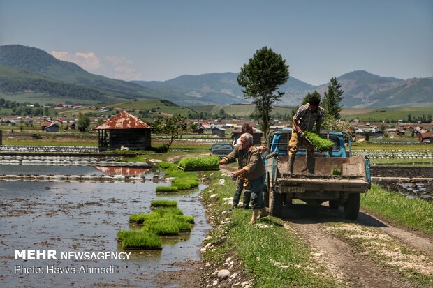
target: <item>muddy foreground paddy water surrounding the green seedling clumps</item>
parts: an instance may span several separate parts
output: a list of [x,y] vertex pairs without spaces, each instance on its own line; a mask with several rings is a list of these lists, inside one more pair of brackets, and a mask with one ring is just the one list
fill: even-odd
[[[161,197],[154,192],[156,185],[161,183],[0,182],[0,287],[154,287],[157,273],[200,259],[200,245],[210,225],[199,190]],[[191,234],[164,239],[162,250],[132,251],[129,260],[15,259],[15,249],[51,249],[57,258],[61,252],[125,252],[117,243],[117,232],[135,229],[129,227],[129,215],[149,212],[154,199],[177,200],[186,215],[193,215],[196,225]],[[86,265],[98,269],[80,273]],[[22,273],[21,267],[30,273]],[[110,267],[113,273],[98,273],[101,268],[109,272]],[[34,272],[37,268],[41,273]],[[64,269],[54,273],[55,268]]]

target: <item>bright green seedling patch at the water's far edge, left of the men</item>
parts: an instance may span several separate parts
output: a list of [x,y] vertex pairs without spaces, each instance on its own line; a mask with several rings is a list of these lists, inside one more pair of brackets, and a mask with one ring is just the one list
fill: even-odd
[[[159,167],[166,172],[166,176],[173,177],[171,186],[157,186],[156,192],[177,192],[177,190],[189,190],[198,187],[198,176],[191,172],[184,172],[177,165],[160,162]],[[172,187],[172,188],[168,188]]]

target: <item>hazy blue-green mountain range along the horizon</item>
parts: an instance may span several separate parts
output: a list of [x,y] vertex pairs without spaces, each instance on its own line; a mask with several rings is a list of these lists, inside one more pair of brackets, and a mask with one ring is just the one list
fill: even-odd
[[[346,108],[433,106],[433,77],[397,79],[358,70],[337,80],[344,90],[342,105]],[[316,90],[323,95],[327,86],[314,86],[290,77],[279,87],[284,96],[278,105],[299,105],[307,93]],[[88,100],[92,95],[97,103],[147,98],[170,100],[181,106],[247,103],[237,84],[237,73],[127,82],[88,73],[75,63],[61,61],[35,47],[0,46],[0,92],[13,95],[29,89],[71,98],[71,102]]]

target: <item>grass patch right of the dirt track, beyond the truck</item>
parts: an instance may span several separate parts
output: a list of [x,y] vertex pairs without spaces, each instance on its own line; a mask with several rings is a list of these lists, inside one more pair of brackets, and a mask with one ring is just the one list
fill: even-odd
[[409,229],[433,235],[433,203],[423,199],[409,199],[373,184],[361,197],[363,209]]

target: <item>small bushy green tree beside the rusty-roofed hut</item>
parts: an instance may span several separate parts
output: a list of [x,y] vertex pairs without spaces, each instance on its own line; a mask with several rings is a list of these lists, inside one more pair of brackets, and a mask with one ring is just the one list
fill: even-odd
[[156,134],[164,134],[170,137],[169,147],[173,144],[174,139],[177,139],[184,134],[184,132],[189,131],[186,118],[181,114],[174,114],[172,117],[158,116],[152,124],[152,127]]

